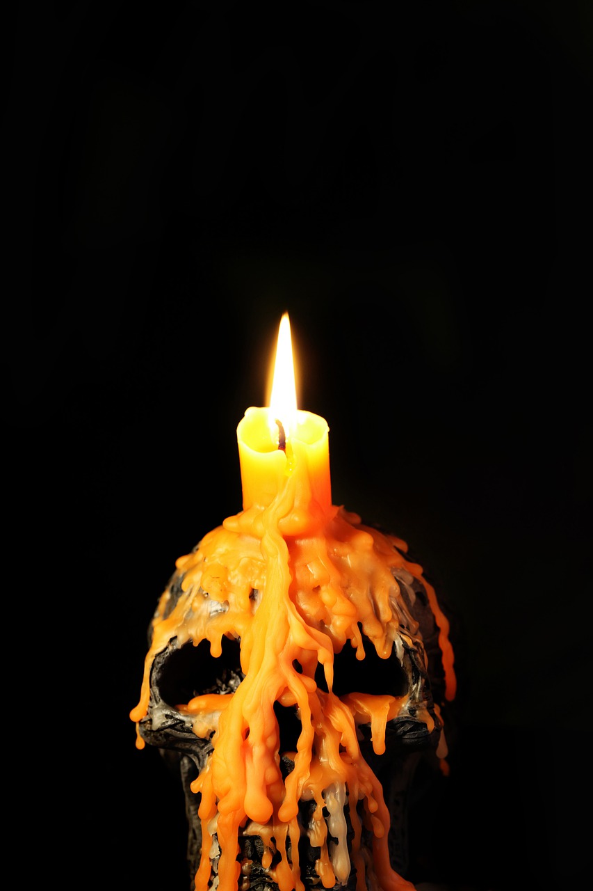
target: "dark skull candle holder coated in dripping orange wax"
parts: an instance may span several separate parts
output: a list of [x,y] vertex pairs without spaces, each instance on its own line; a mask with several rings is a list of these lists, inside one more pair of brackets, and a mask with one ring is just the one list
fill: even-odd
[[277,555],[263,539],[232,518],[177,560],[131,713],[183,783],[191,891],[411,888],[414,778],[446,756],[447,619],[406,544],[343,508]]

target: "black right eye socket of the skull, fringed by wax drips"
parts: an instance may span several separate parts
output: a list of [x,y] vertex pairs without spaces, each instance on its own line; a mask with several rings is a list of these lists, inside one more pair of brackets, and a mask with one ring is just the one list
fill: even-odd
[[[382,659],[372,641],[361,635],[364,658],[356,658],[356,650],[346,642],[339,653],[334,654],[334,685],[336,696],[345,693],[372,693],[375,696],[403,696],[408,691],[408,678],[400,660],[392,650],[389,658]],[[328,692],[322,665],[315,671],[315,683]]]

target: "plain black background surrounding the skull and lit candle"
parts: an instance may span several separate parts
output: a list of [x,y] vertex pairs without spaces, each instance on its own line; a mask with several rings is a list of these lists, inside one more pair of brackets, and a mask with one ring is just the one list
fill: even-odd
[[9,664],[50,841],[27,869],[186,887],[181,793],[128,713],[175,559],[240,510],[286,309],[334,503],[405,539],[459,626],[416,878],[578,887],[588,4],[48,3],[7,33]]

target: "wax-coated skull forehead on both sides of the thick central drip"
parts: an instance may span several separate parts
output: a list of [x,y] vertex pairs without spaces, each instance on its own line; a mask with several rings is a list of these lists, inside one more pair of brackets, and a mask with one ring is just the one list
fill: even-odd
[[[343,525],[352,530],[350,524]],[[356,530],[354,541],[331,540],[324,559],[312,553],[308,540],[289,546],[293,575],[290,599],[302,624],[320,630],[335,653],[349,640],[358,650],[359,660],[369,652],[369,648],[361,647],[361,635],[386,658],[394,644],[400,647],[400,630],[421,641],[432,631],[427,623],[432,621],[435,626],[424,586],[405,567],[394,545],[389,550],[389,561],[378,559],[366,528]],[[361,541],[364,547],[360,547]],[[232,535],[220,527],[177,561],[177,571],[152,623],[154,653],[173,638],[179,645],[207,639],[212,655],[218,657],[224,636],[248,638],[266,584],[266,565],[250,537],[247,542],[251,548],[246,547],[245,536]],[[398,560],[394,559],[396,554]],[[385,554],[379,557],[385,558]],[[401,658],[401,648],[398,655]]]

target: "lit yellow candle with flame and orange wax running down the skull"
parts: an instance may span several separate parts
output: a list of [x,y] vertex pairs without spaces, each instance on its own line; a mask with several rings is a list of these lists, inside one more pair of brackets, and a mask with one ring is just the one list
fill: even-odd
[[[380,755],[387,721],[410,718],[430,733],[441,725],[438,706],[414,700],[412,683],[401,694],[337,696],[335,657],[351,647],[359,660],[369,648],[385,660],[395,653],[402,665],[408,650],[424,658],[418,622],[402,596],[405,580],[416,578],[440,629],[451,699],[448,624],[422,568],[406,560],[405,543],[331,503],[329,427],[296,407],[291,350],[288,359],[282,352],[289,345],[285,316],[270,405],[248,408],[237,429],[243,509],[176,561],[176,582],[159,601],[141,698],[130,716],[142,748],[151,666],[171,642],[180,647],[207,641],[213,658],[220,657],[224,638],[240,642],[243,676],[234,691],[176,704],[196,736],[212,741],[191,784],[202,834],[197,891],[207,891],[213,878],[213,854],[219,891],[237,891],[241,870],[250,869],[240,840],[252,836],[262,839],[262,866],[280,891],[304,891],[304,832],[319,848],[315,871],[323,887],[345,884],[355,870],[357,891],[366,891],[367,881],[383,891],[411,889],[390,864],[390,816],[381,784],[361,754],[359,728],[370,724]],[[282,368],[288,383],[280,397]],[[294,749],[282,748],[277,707],[292,710],[300,722]],[[286,775],[282,758],[294,765]],[[302,802],[311,805],[305,826]],[[363,837],[370,839],[372,854]]]

